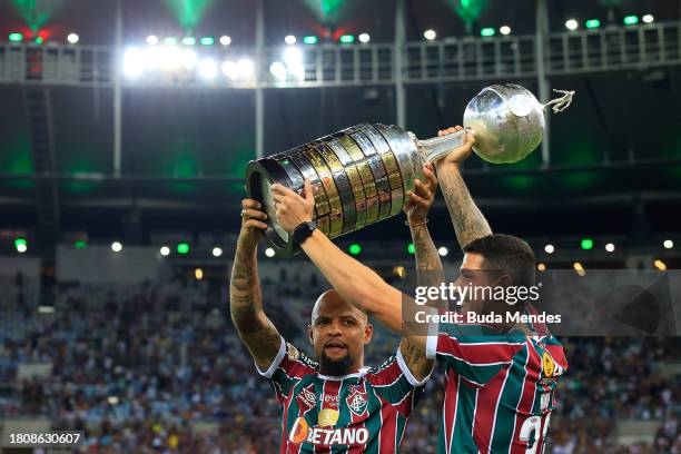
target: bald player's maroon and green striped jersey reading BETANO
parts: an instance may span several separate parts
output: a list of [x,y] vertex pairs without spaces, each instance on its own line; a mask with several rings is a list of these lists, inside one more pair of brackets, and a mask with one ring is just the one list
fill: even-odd
[[258,372],[280,404],[280,454],[398,453],[427,381],[412,375],[399,349],[381,367],[325,376],[283,338],[272,366]]

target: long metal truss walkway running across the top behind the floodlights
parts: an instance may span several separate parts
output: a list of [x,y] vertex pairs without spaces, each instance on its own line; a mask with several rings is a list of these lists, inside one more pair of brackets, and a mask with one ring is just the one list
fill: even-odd
[[[537,77],[535,36],[445,39],[406,43],[398,51],[388,45],[299,46],[302,62],[283,78],[275,78],[270,66],[282,61],[285,47],[268,47],[255,62],[255,77],[225,76],[219,69],[214,80],[203,80],[196,69],[164,71],[159,68],[140,78],[124,78],[126,88],[305,88],[442,83]],[[608,27],[550,33],[544,38],[544,67],[547,77],[619,71],[681,65],[681,22],[659,22],[633,27]],[[159,47],[159,52],[161,48]],[[213,58],[235,66],[254,58],[255,48],[180,47],[199,59]],[[122,58],[122,57],[121,57]],[[111,87],[116,79],[112,47],[0,46],[0,83],[77,87]],[[233,68],[234,69],[234,68]],[[401,77],[396,77],[396,71]]]

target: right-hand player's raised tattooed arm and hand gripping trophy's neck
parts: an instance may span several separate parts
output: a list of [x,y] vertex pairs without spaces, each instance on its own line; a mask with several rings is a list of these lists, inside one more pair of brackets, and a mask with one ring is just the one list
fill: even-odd
[[[440,131],[440,136],[461,130],[461,126]],[[447,209],[456,231],[458,245],[463,248],[471,241],[492,235],[487,220],[480,211],[464,182],[460,166],[471,155],[475,137],[467,135],[466,144],[453,150],[447,157],[437,161],[437,178],[442,186]]]

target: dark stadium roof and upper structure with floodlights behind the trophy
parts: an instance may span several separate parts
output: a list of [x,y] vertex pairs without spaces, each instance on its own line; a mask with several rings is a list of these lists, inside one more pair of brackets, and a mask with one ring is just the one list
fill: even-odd
[[[258,152],[363,121],[404,124],[431,137],[460,122],[480,89],[503,80],[537,95],[560,88],[576,97],[551,119],[550,155],[466,164],[471,191],[495,229],[626,235],[644,213],[653,230],[681,231],[673,215],[681,208],[678,2],[545,0],[545,22],[537,21],[537,1],[510,3],[4,2],[0,228],[37,229],[51,239],[69,230],[111,236],[137,219],[146,233],[236,231],[244,170]],[[654,22],[644,23],[648,13]],[[641,20],[626,24],[628,16]],[[570,18],[576,30],[565,28]],[[601,27],[588,29],[590,19]],[[537,33],[537,22],[545,32]],[[512,32],[502,34],[502,26]],[[437,38],[425,39],[426,29]],[[483,29],[493,36],[481,36]],[[72,32],[78,42],[68,41]],[[340,42],[363,32],[371,41]],[[210,57],[216,79],[118,72],[126,51],[155,46],[151,34],[157,46],[176,39],[197,66]],[[288,48],[286,36],[297,37],[302,77],[288,68],[279,79],[273,70]],[[305,36],[318,41],[306,45]],[[225,59],[255,61],[251,78],[223,73]],[[436,231],[451,235],[442,201],[433,219]],[[385,228],[389,223],[397,220],[362,235],[401,235]]]

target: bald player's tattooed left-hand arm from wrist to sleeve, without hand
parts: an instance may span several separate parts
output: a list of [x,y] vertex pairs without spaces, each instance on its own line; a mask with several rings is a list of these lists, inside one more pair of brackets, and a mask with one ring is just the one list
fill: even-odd
[[263,310],[257,248],[237,243],[229,282],[229,312],[239,337],[260,369],[267,369],[279,352],[279,333]]

